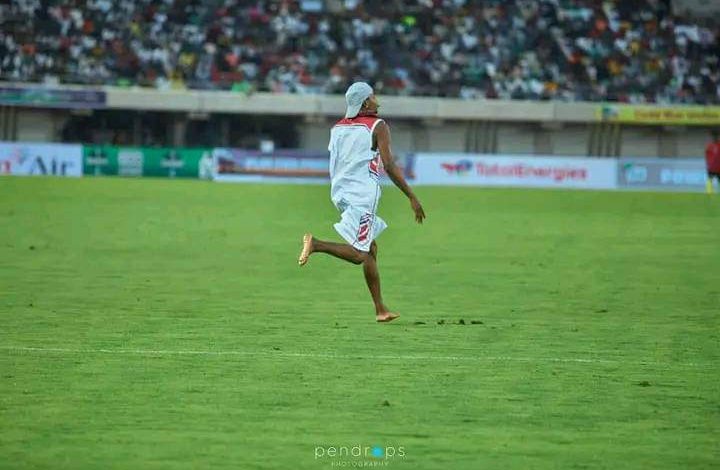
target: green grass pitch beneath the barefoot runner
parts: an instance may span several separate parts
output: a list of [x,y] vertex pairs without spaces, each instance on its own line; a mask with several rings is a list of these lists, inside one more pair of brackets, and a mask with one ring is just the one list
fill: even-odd
[[720,196],[417,191],[0,179],[0,468],[720,466]]

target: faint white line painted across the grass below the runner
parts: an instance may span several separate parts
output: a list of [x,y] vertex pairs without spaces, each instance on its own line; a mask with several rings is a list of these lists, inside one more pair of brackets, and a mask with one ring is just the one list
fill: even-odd
[[639,366],[678,366],[678,367],[715,367],[713,364],[695,362],[659,362],[626,361],[622,359],[579,358],[579,357],[518,357],[518,356],[447,356],[447,355],[382,355],[382,354],[335,354],[323,352],[283,352],[283,351],[203,351],[171,349],[91,349],[91,348],[38,348],[28,346],[0,346],[0,350],[16,353],[48,354],[110,354],[134,356],[236,356],[263,358],[314,358],[314,359],[367,359],[367,360],[406,360],[406,361],[510,361],[510,362],[559,362],[580,364],[617,364]]

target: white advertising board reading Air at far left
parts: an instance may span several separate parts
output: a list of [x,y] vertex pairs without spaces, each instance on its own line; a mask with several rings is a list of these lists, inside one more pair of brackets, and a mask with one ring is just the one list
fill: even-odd
[[82,176],[82,146],[0,142],[0,174]]

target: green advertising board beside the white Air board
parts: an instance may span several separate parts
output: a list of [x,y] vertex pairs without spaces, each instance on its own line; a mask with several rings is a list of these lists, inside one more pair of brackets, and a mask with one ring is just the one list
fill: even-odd
[[89,176],[197,178],[200,159],[210,149],[83,146],[83,173]]

